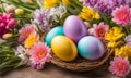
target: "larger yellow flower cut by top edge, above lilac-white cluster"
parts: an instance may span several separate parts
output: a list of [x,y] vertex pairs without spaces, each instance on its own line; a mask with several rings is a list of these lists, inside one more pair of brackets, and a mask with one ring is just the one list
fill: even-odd
[[44,8],[45,9],[50,9],[52,6],[55,6],[56,4],[58,4],[59,0],[44,0]]

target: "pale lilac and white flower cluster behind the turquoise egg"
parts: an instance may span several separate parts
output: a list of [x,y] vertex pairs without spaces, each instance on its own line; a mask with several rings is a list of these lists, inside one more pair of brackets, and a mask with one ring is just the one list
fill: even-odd
[[59,24],[66,13],[67,9],[61,4],[57,8],[51,8],[50,10],[39,9],[34,11],[33,23],[37,24],[43,31],[45,29],[48,30],[55,24]]

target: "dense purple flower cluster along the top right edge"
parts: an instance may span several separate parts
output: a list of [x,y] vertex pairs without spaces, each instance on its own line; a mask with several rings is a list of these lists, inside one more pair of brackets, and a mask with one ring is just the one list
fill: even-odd
[[91,6],[100,13],[110,14],[112,10],[120,5],[131,6],[131,0],[80,0],[84,5]]

